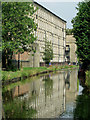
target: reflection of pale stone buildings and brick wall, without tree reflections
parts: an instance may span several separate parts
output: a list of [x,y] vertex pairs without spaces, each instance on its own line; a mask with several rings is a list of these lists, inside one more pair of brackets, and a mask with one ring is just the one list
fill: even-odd
[[[33,118],[53,118],[62,114],[66,109],[66,102],[76,95],[76,74],[70,71],[61,71],[37,78],[24,85],[16,86],[4,99],[19,98],[26,102],[28,108],[37,112]],[[10,97],[9,97],[10,96]],[[8,101],[9,101],[8,100]],[[8,104],[8,103],[7,103]]]

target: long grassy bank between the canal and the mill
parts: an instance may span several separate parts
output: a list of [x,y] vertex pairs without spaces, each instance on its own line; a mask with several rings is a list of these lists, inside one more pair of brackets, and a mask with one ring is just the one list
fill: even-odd
[[21,77],[23,79],[24,77],[38,75],[42,72],[52,72],[61,69],[75,68],[75,67],[77,66],[71,65],[71,66],[52,66],[52,67],[35,67],[35,68],[26,67],[26,68],[22,68],[20,71],[15,71],[15,72],[2,71],[2,80],[6,81],[18,77]]

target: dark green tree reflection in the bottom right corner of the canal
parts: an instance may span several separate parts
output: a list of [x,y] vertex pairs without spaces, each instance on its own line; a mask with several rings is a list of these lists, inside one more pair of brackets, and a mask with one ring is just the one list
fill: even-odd
[[74,110],[74,120],[89,120],[90,118],[90,93],[86,89],[83,94],[77,97]]

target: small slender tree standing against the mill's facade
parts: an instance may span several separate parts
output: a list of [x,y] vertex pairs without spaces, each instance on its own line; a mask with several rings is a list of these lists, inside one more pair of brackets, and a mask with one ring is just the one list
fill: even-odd
[[45,47],[44,47],[44,57],[43,60],[45,61],[45,64],[49,65],[50,60],[53,59],[53,48],[51,42],[45,40]]

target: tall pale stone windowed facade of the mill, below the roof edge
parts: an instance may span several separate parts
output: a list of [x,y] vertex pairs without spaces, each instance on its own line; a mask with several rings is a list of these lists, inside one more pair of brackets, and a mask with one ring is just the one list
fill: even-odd
[[51,41],[53,46],[54,58],[52,62],[61,63],[65,62],[65,29],[66,22],[41,5],[34,3],[39,9],[36,12],[35,22],[38,24],[36,32],[37,43],[40,47],[40,63],[44,62],[43,47],[45,46],[45,39]]

